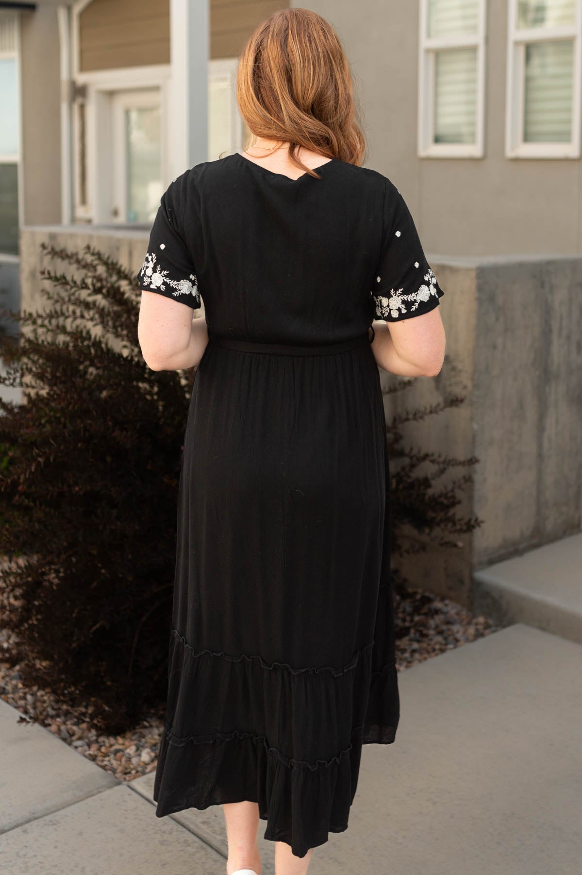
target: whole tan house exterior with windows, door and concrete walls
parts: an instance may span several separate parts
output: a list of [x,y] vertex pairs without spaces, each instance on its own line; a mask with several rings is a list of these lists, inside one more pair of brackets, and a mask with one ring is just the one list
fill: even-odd
[[[414,400],[463,397],[428,443],[479,459],[461,511],[484,525],[442,561],[432,549],[420,578],[469,602],[475,567],[582,521],[582,0],[309,7],[348,53],[366,164],[405,196],[447,290],[446,365]],[[41,242],[139,269],[171,179],[245,144],[237,56],[279,8],[0,2],[0,290],[15,307],[44,304]]]

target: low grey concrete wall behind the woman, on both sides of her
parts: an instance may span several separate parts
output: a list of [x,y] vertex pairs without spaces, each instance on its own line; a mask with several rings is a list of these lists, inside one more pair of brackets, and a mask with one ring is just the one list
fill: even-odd
[[[148,233],[23,228],[22,305],[30,310],[44,304],[42,241],[78,252],[90,242],[137,272]],[[385,411],[390,418],[452,395],[465,399],[404,430],[420,449],[479,460],[436,485],[471,473],[457,513],[475,514],[482,526],[455,538],[457,549],[436,546],[428,535],[428,552],[411,565],[412,583],[470,604],[475,569],[582,527],[582,258],[428,258],[446,292],[445,363],[437,377],[386,394]],[[60,262],[52,269],[72,272]],[[395,379],[381,372],[384,388]]]

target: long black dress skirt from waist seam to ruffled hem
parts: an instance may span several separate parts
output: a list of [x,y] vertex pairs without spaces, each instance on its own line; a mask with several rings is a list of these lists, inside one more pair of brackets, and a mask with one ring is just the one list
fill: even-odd
[[211,336],[184,437],[156,816],[257,802],[303,857],[398,725],[388,456],[368,332]]

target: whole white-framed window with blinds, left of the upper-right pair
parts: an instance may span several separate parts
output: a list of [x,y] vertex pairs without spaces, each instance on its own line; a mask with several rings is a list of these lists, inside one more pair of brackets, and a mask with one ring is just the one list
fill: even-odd
[[420,0],[421,158],[482,158],[485,11],[485,0]]

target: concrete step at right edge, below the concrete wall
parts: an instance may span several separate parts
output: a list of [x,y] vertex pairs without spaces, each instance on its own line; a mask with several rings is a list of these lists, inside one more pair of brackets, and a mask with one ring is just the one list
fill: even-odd
[[475,613],[582,643],[582,533],[476,571]]

